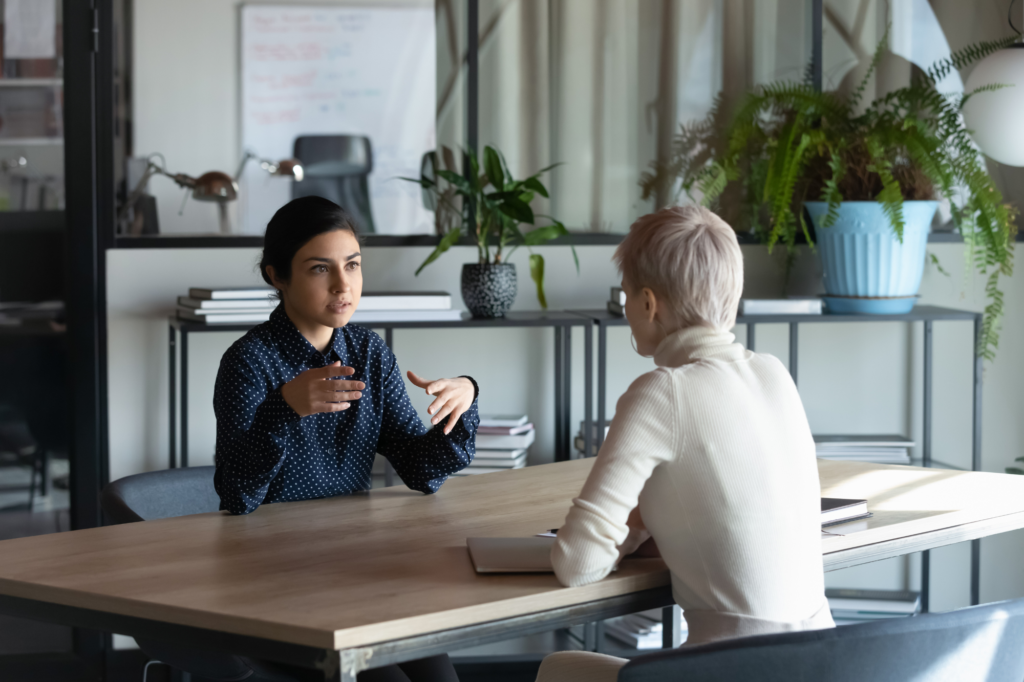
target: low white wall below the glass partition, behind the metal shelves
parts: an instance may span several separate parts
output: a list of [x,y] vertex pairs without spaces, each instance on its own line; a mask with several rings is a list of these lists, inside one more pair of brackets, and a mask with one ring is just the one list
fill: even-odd
[[[601,307],[608,287],[616,284],[611,265],[612,247],[582,247],[577,276],[567,249],[549,247],[548,299],[554,309]],[[981,309],[982,288],[965,282],[963,248],[936,244],[947,278],[929,267],[922,302]],[[426,256],[425,248],[367,248],[367,290],[430,289],[452,292],[461,306],[459,272],[473,260],[473,250],[457,248],[429,266],[419,278],[413,271]],[[779,293],[777,266],[761,247],[743,247],[746,290],[755,296]],[[526,278],[525,252],[513,262],[519,271],[515,309],[538,308],[532,284]],[[167,315],[175,297],[191,286],[258,284],[256,249],[114,250],[108,252],[109,367],[111,476],[117,478],[166,466]],[[797,280],[815,287],[816,260],[804,253]],[[986,366],[983,406],[983,462],[988,471],[1001,471],[1021,455],[1024,425],[1017,418],[1024,386],[1024,357],[1015,352],[1024,343],[1024,315],[1020,313],[1024,279],[1007,283],[1007,316],[1001,349]],[[736,330],[740,341],[742,328]],[[193,464],[212,462],[214,419],[213,380],[220,355],[238,334],[217,332],[190,337],[189,451]],[[572,424],[583,418],[583,334],[573,336]],[[758,329],[758,350],[787,361],[787,328]],[[935,326],[935,436],[937,459],[970,465],[971,339],[966,323]],[[806,325],[800,335],[800,389],[811,427],[816,432],[905,432],[920,439],[921,358],[920,325],[873,323]],[[630,347],[625,328],[608,335],[607,414],[616,397],[638,375],[652,368]],[[531,461],[553,456],[553,351],[551,330],[395,331],[395,352],[402,367],[429,376],[470,374],[480,384],[484,412],[525,412],[538,426]],[[414,393],[421,414],[428,404]],[[1024,535],[1008,534],[983,544],[982,597],[994,600],[1024,595]],[[936,608],[967,603],[967,546],[936,553],[933,561],[933,603]],[[915,564],[914,564],[915,565]],[[844,586],[901,587],[915,585],[916,569],[902,560],[833,573],[829,583]]]

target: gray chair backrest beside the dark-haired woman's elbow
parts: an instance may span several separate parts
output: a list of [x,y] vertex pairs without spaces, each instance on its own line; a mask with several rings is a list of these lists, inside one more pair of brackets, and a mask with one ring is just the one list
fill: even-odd
[[216,467],[185,467],[125,476],[103,488],[100,504],[114,523],[202,514],[220,509]]

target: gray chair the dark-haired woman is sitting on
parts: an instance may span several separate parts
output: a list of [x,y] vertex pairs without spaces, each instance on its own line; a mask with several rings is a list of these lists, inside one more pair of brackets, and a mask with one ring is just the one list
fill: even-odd
[[[215,468],[166,469],[119,478],[103,488],[100,504],[115,524],[217,511],[220,497],[213,487]],[[323,673],[317,675],[310,671],[307,676],[305,671],[233,653],[194,649],[137,637],[135,641],[142,652],[154,660],[207,680],[303,682],[305,679],[324,679]]]

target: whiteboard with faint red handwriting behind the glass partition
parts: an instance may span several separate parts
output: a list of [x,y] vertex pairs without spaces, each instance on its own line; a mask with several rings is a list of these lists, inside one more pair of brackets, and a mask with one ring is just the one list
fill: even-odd
[[[299,135],[366,135],[378,233],[433,233],[420,161],[436,141],[433,7],[242,7],[242,148],[273,161]],[[241,230],[262,235],[291,201],[291,178],[250,162],[240,179]]]

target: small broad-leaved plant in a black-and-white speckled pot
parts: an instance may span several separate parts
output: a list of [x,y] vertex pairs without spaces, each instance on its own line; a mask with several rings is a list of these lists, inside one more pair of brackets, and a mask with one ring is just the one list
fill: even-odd
[[[505,157],[493,146],[483,148],[483,168],[473,150],[464,157],[469,173],[458,172],[455,154],[442,147],[444,168],[437,167],[436,159],[425,164],[420,178],[402,178],[417,182],[427,193],[434,207],[440,243],[416,270],[437,260],[452,248],[464,233],[476,245],[478,259],[462,266],[462,299],[474,317],[501,317],[515,301],[515,265],[508,258],[520,246],[527,249],[568,235],[568,230],[551,216],[535,215],[529,204],[537,195],[547,198],[548,189],[541,182],[541,175],[554,168],[548,166],[529,177],[516,180],[509,172]],[[535,225],[538,217],[551,223],[523,232],[520,224]],[[580,259],[572,247],[577,272]],[[544,257],[529,254],[529,274],[537,286],[537,299],[547,308],[544,294]]]

